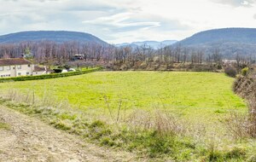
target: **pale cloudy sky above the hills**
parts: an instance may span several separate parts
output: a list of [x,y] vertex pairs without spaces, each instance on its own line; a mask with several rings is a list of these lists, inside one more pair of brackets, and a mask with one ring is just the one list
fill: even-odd
[[256,0],[0,0],[0,35],[75,31],[131,43],[225,27],[256,27]]

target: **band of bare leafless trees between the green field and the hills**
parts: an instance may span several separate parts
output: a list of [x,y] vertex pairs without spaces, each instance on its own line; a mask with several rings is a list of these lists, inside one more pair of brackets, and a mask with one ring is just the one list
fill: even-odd
[[[115,47],[114,45],[102,45],[99,43],[55,43],[49,41],[9,43],[0,45],[0,58],[16,58],[22,55],[30,57],[33,61],[44,65],[63,65],[73,61],[74,55],[83,55],[80,62],[102,62],[105,64],[136,64],[143,61],[159,62],[162,64],[172,63],[215,63],[219,64],[224,59],[218,49],[207,54],[202,49],[182,47],[181,44],[153,49],[146,44],[136,48]],[[236,55],[236,61],[251,61],[252,57],[245,58]]]

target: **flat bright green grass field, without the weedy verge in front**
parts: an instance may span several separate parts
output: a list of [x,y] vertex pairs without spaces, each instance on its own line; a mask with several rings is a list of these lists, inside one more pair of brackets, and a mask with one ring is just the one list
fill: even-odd
[[189,117],[214,118],[228,109],[244,111],[245,103],[232,92],[233,78],[212,72],[93,72],[85,75],[0,84],[0,89],[35,91],[66,100],[86,110],[166,108]]

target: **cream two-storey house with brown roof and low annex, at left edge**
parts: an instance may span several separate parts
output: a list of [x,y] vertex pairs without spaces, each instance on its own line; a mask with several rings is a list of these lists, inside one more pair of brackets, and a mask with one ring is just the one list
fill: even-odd
[[23,58],[0,59],[0,78],[46,74],[45,67],[37,67]]

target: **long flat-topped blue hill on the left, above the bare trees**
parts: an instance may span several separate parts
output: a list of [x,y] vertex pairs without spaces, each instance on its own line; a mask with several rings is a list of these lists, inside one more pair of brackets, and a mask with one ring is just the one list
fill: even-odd
[[20,43],[20,42],[40,42],[52,41],[55,43],[64,43],[76,41],[80,43],[100,43],[108,44],[100,38],[85,32],[68,32],[68,31],[28,31],[15,32],[0,36],[0,43]]

